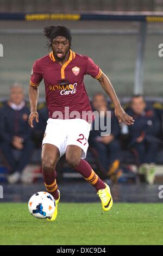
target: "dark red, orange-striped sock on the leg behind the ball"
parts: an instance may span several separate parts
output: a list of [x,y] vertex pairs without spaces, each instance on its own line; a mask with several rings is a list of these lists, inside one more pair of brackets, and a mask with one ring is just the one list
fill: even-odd
[[46,190],[48,193],[52,194],[55,200],[59,198],[57,181],[55,179],[56,177],[57,173],[55,170],[53,172],[43,172],[43,179],[45,182]]

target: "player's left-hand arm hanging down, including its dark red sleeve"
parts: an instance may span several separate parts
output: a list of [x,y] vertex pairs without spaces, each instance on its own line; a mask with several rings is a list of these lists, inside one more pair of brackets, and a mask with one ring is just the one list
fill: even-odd
[[28,123],[30,127],[33,126],[33,120],[36,119],[36,122],[39,123],[39,114],[37,112],[37,102],[39,99],[39,83],[42,80],[42,74],[39,71],[37,62],[34,63],[32,74],[30,77],[29,83],[29,102],[30,102],[30,115],[28,118]]

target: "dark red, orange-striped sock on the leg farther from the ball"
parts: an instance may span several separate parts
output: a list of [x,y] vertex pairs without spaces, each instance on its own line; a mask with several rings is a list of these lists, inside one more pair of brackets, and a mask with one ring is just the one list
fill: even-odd
[[102,190],[106,187],[105,183],[99,178],[99,176],[92,170],[89,163],[85,160],[80,160],[78,166],[75,168],[80,174],[83,175],[84,179],[88,181],[96,190]]

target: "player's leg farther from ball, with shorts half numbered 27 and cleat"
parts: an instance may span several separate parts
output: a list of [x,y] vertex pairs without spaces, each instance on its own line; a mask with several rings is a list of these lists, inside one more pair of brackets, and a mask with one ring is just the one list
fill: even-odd
[[[102,202],[104,211],[109,211],[112,207],[112,197],[110,188],[94,172],[89,163],[84,159],[88,148],[87,139],[90,132],[90,124],[82,119],[68,120],[70,130],[66,141],[66,161],[68,164],[83,175],[84,179],[95,187]],[[73,133],[71,132],[73,127]],[[83,142],[84,141],[84,142]]]

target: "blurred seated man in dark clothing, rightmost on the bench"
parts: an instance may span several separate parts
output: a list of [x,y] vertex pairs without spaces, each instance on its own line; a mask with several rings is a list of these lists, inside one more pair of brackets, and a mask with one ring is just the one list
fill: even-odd
[[158,138],[161,123],[154,109],[148,108],[142,95],[131,98],[130,109],[127,111],[135,119],[133,126],[128,126],[130,147],[138,156],[140,173],[145,173],[149,183],[154,181],[154,163],[160,140]]

